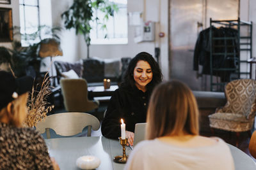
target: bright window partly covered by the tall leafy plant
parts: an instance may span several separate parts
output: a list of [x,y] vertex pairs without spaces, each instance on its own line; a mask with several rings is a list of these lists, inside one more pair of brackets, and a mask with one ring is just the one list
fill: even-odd
[[[92,23],[90,32],[91,43],[96,44],[127,44],[128,26],[127,26],[127,0],[109,0],[118,6],[118,13],[109,17],[106,23],[107,29],[102,29],[102,25],[97,22]],[[94,14],[102,23],[104,14],[100,11],[94,11]],[[106,37],[106,38],[105,38]]]

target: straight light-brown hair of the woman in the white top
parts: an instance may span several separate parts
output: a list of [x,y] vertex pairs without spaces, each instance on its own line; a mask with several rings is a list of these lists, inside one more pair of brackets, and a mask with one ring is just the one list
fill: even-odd
[[187,85],[177,80],[161,83],[150,97],[146,138],[198,135],[198,115],[195,96]]

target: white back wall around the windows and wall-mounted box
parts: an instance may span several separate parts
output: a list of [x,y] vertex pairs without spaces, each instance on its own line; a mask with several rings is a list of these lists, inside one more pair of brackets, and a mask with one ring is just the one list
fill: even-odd
[[[146,51],[154,56],[154,48],[161,48],[159,59],[164,78],[168,80],[168,0],[128,0],[128,12],[144,11],[145,20],[155,20],[156,41],[147,43],[134,43],[134,27],[128,27],[127,45],[91,45],[90,55],[102,58],[134,57],[136,53]],[[52,25],[63,27],[61,13],[71,6],[73,0],[51,0]],[[156,6],[159,6],[157,9]],[[19,1],[12,0],[12,4],[0,4],[0,8],[12,8],[13,26],[19,26]],[[256,1],[240,0],[241,20],[253,22],[253,40],[256,39]],[[158,33],[164,32],[165,37],[159,38]],[[11,43],[0,43],[0,46],[11,47]],[[253,41],[253,54],[256,55],[255,41]],[[54,57],[54,60],[67,60],[74,62],[86,58],[86,45],[83,36],[76,36],[75,30],[61,31],[61,48],[63,57]]]

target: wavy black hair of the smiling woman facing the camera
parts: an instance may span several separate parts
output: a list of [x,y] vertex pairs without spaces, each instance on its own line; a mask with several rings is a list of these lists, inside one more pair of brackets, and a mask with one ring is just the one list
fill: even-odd
[[162,81],[163,75],[161,73],[161,69],[159,68],[159,65],[157,64],[156,60],[147,52],[140,52],[138,53],[130,62],[129,66],[127,67],[127,70],[125,72],[124,76],[124,82],[122,85],[130,85],[131,87],[135,86],[135,81],[133,78],[133,71],[136,67],[136,64],[138,61],[143,60],[148,62],[152,69],[153,78],[147,85],[147,90],[152,92],[154,87]]

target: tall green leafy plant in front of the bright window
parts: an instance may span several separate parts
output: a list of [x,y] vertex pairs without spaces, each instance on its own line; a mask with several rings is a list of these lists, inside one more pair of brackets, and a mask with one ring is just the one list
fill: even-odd
[[[76,34],[82,34],[87,46],[87,57],[89,57],[90,31],[92,29],[90,22],[99,22],[99,18],[93,16],[93,11],[100,10],[104,13],[104,20],[109,16],[113,17],[114,11],[118,11],[116,4],[108,0],[74,0],[74,3],[67,11],[61,14],[64,19],[66,29],[76,29]],[[98,23],[99,24],[99,23]],[[106,29],[106,24],[100,23],[102,29]]]

